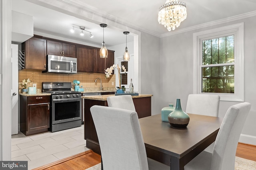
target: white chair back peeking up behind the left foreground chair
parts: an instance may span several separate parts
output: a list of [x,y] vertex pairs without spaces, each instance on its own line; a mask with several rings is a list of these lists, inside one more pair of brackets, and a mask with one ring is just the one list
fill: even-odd
[[131,95],[109,96],[107,102],[108,107],[136,111]]

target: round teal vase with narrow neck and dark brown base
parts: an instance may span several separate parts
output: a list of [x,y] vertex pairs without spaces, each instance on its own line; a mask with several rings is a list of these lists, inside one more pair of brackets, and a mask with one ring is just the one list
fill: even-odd
[[188,126],[189,119],[188,114],[185,113],[180,106],[180,99],[177,99],[174,111],[168,115],[168,121],[171,127],[186,128]]

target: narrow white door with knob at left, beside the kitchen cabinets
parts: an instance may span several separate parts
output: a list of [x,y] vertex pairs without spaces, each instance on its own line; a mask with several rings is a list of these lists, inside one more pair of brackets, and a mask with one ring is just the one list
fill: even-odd
[[18,45],[12,44],[11,58],[12,135],[18,134]]

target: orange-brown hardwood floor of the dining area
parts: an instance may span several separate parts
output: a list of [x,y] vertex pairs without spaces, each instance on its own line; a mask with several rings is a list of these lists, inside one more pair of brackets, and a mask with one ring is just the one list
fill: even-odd
[[[256,161],[256,146],[238,143],[236,156]],[[100,163],[100,161],[99,154],[88,150],[33,170],[85,170]]]

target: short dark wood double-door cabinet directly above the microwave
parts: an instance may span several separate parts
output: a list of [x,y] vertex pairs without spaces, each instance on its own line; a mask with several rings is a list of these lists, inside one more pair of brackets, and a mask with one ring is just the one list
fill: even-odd
[[47,40],[47,54],[75,58],[76,46],[61,41]]

